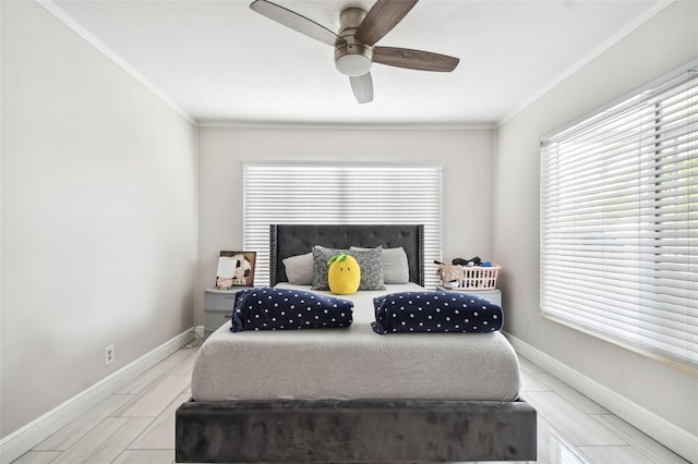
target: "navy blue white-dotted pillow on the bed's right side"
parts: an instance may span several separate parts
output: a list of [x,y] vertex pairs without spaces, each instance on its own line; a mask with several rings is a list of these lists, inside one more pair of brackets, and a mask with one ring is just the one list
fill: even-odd
[[470,293],[402,292],[373,298],[376,333],[492,332],[504,323],[502,308]]

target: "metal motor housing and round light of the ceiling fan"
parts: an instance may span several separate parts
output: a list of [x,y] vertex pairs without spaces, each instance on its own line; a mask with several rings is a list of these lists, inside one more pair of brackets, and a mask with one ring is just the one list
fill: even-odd
[[348,76],[364,75],[373,64],[373,47],[359,42],[354,37],[365,15],[366,12],[360,8],[348,8],[339,15],[338,35],[346,41],[335,47],[335,66]]

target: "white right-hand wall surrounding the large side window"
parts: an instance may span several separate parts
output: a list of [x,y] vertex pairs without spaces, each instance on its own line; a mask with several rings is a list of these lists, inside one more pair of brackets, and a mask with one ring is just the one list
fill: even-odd
[[695,58],[698,2],[674,2],[504,123],[493,244],[509,332],[694,436],[698,378],[541,318],[538,289],[541,136]]

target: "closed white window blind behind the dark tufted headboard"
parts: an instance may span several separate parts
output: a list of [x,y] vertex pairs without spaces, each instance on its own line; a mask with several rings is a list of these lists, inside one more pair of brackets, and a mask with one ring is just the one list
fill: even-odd
[[424,224],[424,284],[438,284],[442,167],[245,163],[244,248],[269,283],[269,224]]

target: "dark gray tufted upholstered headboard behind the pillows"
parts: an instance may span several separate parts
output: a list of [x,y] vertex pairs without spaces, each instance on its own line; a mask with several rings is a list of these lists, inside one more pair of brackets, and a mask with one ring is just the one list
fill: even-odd
[[423,224],[272,224],[269,283],[287,282],[284,259],[310,253],[315,245],[332,248],[401,246],[407,253],[410,282],[424,285]]

